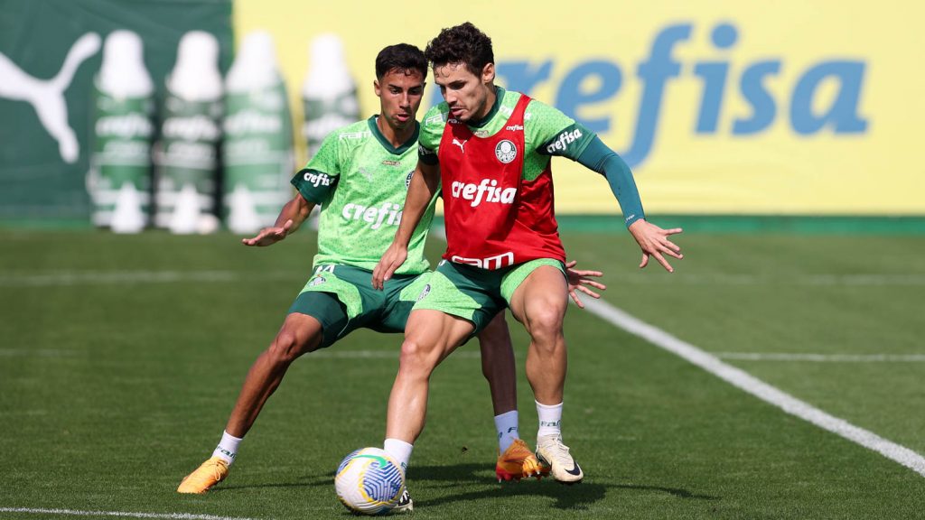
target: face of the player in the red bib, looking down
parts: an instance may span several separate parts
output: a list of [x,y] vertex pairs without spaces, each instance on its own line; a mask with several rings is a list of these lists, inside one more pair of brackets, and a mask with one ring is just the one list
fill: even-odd
[[[478,120],[491,111],[488,102],[494,93],[495,65],[489,63],[481,74],[473,74],[462,63],[450,63],[434,68],[434,81],[447,105],[450,117],[460,121]],[[494,100],[491,100],[492,103]]]

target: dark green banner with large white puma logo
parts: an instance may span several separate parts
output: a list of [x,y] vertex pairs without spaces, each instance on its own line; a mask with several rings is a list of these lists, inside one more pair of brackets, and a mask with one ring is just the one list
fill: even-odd
[[121,30],[141,38],[159,105],[186,32],[214,34],[228,68],[231,6],[230,0],[0,0],[0,221],[90,226],[90,193],[99,188],[99,172],[90,175],[91,132],[101,116],[93,85],[105,38]]

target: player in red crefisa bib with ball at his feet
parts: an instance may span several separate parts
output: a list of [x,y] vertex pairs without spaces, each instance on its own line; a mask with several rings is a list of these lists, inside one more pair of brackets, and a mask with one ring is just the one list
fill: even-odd
[[526,373],[539,415],[537,458],[560,482],[580,482],[584,472],[561,439],[568,287],[553,215],[551,156],[569,157],[607,178],[642,250],[640,267],[651,256],[672,271],[665,256],[682,257],[669,240],[681,229],[646,221],[629,167],[594,132],[549,105],[497,87],[491,39],[473,24],[441,31],[425,56],[445,102],[423,120],[401,225],[373,283],[381,288],[402,268],[413,227],[440,186],[447,253],[405,328],[384,447],[407,462],[424,428],[430,374],[508,306],[531,337]]

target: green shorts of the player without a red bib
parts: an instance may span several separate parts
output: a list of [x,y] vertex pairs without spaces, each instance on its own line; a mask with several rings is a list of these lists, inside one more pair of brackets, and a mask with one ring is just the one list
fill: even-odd
[[353,266],[317,266],[289,312],[312,316],[321,323],[322,348],[357,328],[404,332],[408,315],[430,275],[430,271],[394,275],[385,282],[383,291],[376,291],[372,271]]

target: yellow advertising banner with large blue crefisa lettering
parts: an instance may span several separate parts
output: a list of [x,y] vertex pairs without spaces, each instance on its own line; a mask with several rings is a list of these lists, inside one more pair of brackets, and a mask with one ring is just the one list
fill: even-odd
[[[368,117],[379,49],[424,48],[472,21],[492,38],[499,84],[598,132],[633,167],[649,213],[920,216],[925,5],[895,6],[409,1],[389,25],[360,16],[360,1],[239,0],[235,30],[272,31],[290,85],[308,42],[336,33]],[[433,81],[426,96],[439,100]],[[553,171],[560,213],[617,212],[597,174],[564,159]]]

